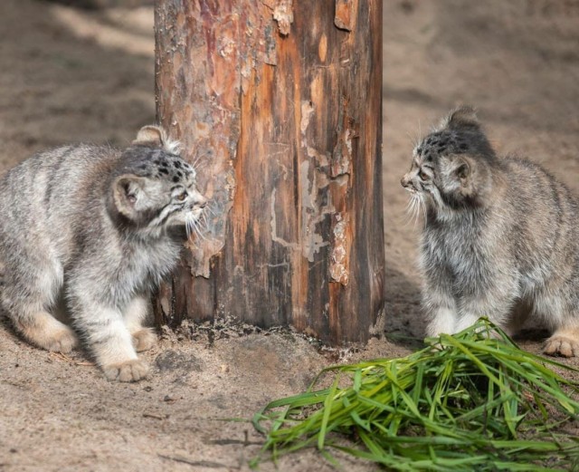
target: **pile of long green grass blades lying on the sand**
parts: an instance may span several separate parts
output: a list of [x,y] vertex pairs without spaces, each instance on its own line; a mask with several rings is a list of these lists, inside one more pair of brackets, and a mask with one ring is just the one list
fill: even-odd
[[[263,458],[332,448],[393,470],[579,470],[574,370],[518,349],[485,319],[400,359],[322,371],[305,393],[253,417]],[[576,370],[574,370],[576,371]],[[331,386],[315,390],[334,374]],[[574,423],[574,428],[579,423]]]

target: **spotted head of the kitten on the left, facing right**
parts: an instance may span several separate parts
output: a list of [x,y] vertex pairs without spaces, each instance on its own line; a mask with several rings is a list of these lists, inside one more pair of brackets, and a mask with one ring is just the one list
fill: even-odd
[[187,234],[198,230],[207,200],[191,165],[171,149],[148,143],[128,148],[121,162],[112,184],[120,214],[150,233],[170,226],[185,226]]

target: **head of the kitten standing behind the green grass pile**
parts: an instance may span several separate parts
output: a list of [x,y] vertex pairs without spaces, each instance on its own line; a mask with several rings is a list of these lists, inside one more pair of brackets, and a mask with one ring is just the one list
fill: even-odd
[[401,180],[413,203],[439,212],[482,203],[494,153],[478,122],[462,113],[455,111],[413,149],[412,167]]

